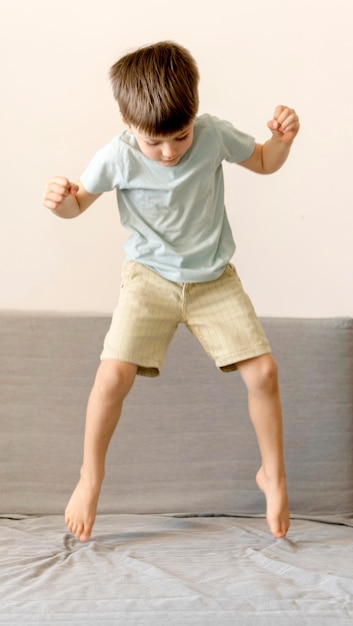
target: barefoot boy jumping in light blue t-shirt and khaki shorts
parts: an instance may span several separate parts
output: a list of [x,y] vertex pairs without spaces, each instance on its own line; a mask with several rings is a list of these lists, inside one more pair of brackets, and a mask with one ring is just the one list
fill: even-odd
[[100,150],[81,179],[53,178],[44,205],[80,215],[116,189],[121,221],[132,233],[123,281],[90,393],[81,476],[65,521],[89,539],[105,457],[136,374],[158,375],[179,323],[185,323],[223,371],[238,369],[262,464],[256,481],[266,497],[274,537],[289,528],[282,416],[276,363],[229,263],[235,245],[225,207],[222,161],[258,173],[277,171],[299,130],[292,109],[278,106],[263,145],[210,115],[197,116],[198,80],[190,53],[172,42],[146,46],[111,68],[126,130]]

